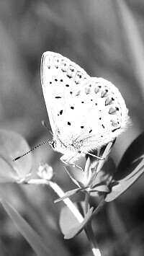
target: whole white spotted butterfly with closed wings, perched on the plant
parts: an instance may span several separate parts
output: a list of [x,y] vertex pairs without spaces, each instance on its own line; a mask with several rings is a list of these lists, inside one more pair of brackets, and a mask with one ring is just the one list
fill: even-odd
[[73,164],[113,141],[130,123],[128,110],[117,87],[89,76],[59,53],[42,55],[41,83],[53,141],[62,162]]

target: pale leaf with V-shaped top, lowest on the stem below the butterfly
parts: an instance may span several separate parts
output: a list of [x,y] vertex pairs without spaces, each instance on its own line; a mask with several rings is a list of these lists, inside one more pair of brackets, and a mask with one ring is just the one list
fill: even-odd
[[68,207],[63,207],[60,212],[60,229],[64,234],[65,239],[71,239],[80,233],[84,226],[89,221],[93,207],[89,209],[89,212],[86,214],[84,221],[81,224],[78,222],[73,213],[68,209]]

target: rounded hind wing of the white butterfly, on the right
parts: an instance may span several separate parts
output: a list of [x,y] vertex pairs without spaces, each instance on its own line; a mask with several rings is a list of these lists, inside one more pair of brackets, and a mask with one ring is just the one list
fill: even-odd
[[[86,79],[75,98],[78,100],[75,143],[81,145],[81,151],[88,153],[101,148],[130,125],[122,94],[110,81],[102,78]],[[70,105],[71,102],[67,102],[67,109],[70,109]]]

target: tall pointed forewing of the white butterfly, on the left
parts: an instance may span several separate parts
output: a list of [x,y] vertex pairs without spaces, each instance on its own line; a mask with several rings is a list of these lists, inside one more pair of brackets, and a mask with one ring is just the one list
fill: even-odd
[[[89,78],[84,69],[58,53],[45,52],[41,62],[42,91],[54,138],[62,137],[68,119],[66,102],[78,91],[82,81]],[[66,121],[68,123],[68,120]]]

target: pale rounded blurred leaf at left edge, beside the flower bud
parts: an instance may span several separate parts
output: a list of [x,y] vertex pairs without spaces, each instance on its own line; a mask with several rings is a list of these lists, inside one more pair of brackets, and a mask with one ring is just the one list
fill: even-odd
[[13,162],[12,159],[30,150],[27,141],[18,133],[0,130],[0,182],[19,182],[30,174],[30,154]]

